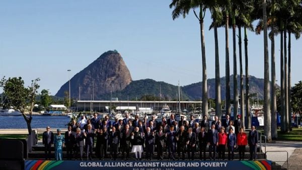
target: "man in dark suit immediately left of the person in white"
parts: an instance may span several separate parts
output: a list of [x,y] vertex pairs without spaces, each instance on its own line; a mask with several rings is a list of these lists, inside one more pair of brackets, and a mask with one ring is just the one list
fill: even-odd
[[[132,130],[129,129],[129,125],[126,125],[124,130],[122,131],[121,134],[121,150],[122,150],[122,159],[129,159],[129,152],[130,152],[130,141],[131,141],[131,133]],[[126,152],[126,157],[125,157],[125,152]]]

